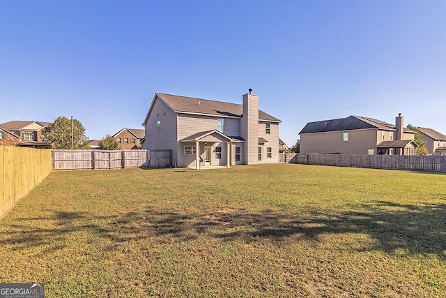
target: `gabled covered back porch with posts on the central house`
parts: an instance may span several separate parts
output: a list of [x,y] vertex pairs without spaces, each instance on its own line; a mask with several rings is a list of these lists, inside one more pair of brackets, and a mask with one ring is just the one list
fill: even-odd
[[231,167],[232,142],[232,137],[217,130],[202,131],[185,137],[180,140],[184,149],[185,166],[197,170]]

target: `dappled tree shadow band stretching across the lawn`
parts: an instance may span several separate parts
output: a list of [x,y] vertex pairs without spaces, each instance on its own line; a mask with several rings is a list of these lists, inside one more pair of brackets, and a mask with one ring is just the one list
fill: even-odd
[[[357,251],[403,251],[406,255],[434,254],[446,260],[446,204],[397,204],[374,202],[351,206],[349,211],[289,211],[222,209],[212,211],[171,211],[146,206],[139,211],[97,216],[87,212],[52,211],[50,218],[18,218],[3,232],[0,245],[26,250],[43,246],[54,251],[70,246],[73,233],[84,238],[107,240],[107,249],[130,241],[148,244],[194,241],[208,238],[247,243],[269,239],[273,242],[323,241],[321,236],[367,234],[373,244]],[[52,222],[52,225],[47,223]],[[47,227],[47,228],[45,228]],[[82,237],[81,237],[82,238]],[[70,240],[68,240],[70,239]],[[344,244],[348,245],[348,244]]]

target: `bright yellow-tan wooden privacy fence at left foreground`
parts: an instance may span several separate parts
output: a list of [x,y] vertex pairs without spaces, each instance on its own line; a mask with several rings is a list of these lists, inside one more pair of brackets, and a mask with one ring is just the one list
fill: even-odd
[[0,146],[0,216],[51,170],[50,150]]

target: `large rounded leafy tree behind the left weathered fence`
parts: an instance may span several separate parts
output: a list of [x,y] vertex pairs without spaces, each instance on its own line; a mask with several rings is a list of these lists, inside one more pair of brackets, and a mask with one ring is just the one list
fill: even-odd
[[90,149],[85,128],[77,119],[57,117],[43,129],[42,138],[51,149]]

